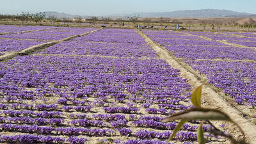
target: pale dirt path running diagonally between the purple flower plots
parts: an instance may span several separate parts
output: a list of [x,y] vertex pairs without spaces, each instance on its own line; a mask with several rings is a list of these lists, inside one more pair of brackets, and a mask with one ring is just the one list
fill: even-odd
[[[193,70],[189,65],[184,63],[184,61],[180,61],[175,58],[169,51],[167,51],[164,47],[161,47],[159,44],[148,38],[143,32],[136,29],[138,33],[145,38],[145,41],[151,45],[152,49],[157,52],[160,58],[166,60],[166,62],[171,65],[173,68],[177,68],[180,70],[180,75],[186,79],[188,79],[188,83],[192,86],[199,86],[200,84],[207,81],[206,77],[200,76],[195,70]],[[223,95],[216,92],[218,90],[214,89],[211,84],[205,84],[202,92],[202,100],[205,107],[220,109],[227,113],[235,122],[237,122],[243,129],[246,134],[246,140],[250,143],[254,143],[256,141],[256,125],[252,124],[250,120],[244,117],[243,113],[234,108],[229,102],[227,102]],[[241,133],[237,131],[237,127],[234,125],[228,125],[228,132],[234,135],[236,138],[241,138]]]

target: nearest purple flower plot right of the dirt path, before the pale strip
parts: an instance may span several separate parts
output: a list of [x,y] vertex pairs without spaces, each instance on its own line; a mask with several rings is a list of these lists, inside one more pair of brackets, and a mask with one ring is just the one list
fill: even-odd
[[209,83],[234,98],[237,104],[256,106],[255,63],[227,61],[187,61],[205,74]]

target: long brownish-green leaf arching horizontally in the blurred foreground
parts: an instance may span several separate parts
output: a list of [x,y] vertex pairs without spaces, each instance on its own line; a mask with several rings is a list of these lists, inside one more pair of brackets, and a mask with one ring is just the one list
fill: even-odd
[[191,108],[180,113],[175,113],[162,120],[170,122],[173,120],[227,120],[232,122],[230,117],[216,109]]

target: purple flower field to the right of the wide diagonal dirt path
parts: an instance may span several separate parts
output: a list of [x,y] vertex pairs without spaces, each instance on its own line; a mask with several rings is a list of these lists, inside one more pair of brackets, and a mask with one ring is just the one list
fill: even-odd
[[[209,83],[216,88],[221,88],[223,93],[232,97],[238,105],[250,109],[256,106],[256,49],[253,48],[256,40],[255,33],[195,31],[177,33],[148,30],[143,32],[168,51],[173,52],[174,56],[182,58],[200,74],[207,76]],[[177,38],[172,38],[173,35],[177,35]],[[179,38],[185,35],[186,39]],[[203,36],[212,40],[203,39],[198,42],[195,36],[201,36],[199,38]],[[168,38],[172,38],[172,41],[166,42]],[[225,45],[218,40],[234,42],[244,47]],[[204,44],[202,44],[203,41],[205,41]],[[253,46],[252,49],[248,48],[251,46]],[[255,117],[255,113],[250,113],[250,115]]]

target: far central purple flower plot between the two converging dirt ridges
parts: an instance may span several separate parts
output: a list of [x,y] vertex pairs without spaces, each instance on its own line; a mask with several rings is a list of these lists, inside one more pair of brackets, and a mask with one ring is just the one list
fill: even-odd
[[154,58],[157,56],[156,52],[152,51],[149,45],[145,45],[143,38],[133,29],[122,31],[120,29],[102,29],[86,36],[74,38],[71,42],[61,42],[60,44],[53,45],[40,53],[135,58]]

